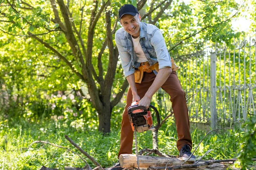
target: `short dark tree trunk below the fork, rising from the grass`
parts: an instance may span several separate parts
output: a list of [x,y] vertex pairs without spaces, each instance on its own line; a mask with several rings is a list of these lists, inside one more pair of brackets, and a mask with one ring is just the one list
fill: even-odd
[[110,118],[111,118],[112,108],[110,106],[110,102],[108,105],[103,107],[102,112],[99,113],[99,131],[103,133],[110,132]]

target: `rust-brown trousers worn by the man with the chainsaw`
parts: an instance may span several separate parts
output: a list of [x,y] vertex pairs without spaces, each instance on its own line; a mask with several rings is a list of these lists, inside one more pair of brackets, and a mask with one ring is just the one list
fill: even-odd
[[[155,77],[156,75],[153,72],[144,72],[142,82],[140,84],[136,83],[137,93],[140,96],[140,99],[142,99],[145,93],[148,91],[148,88],[152,85]],[[186,105],[185,92],[181,88],[176,71],[172,71],[169,78],[166,80],[161,88],[169,94],[170,101],[172,102],[172,109],[175,116],[178,134],[177,149],[180,150],[184,144],[188,144],[189,147],[192,148],[192,140],[189,133],[189,115]],[[127,108],[131,106],[132,98],[133,96],[131,93],[131,88],[129,88],[126,98],[125,110],[122,114],[120,140],[121,145],[118,153],[118,158],[121,154],[132,153],[134,132],[131,129],[131,124],[127,111]]]

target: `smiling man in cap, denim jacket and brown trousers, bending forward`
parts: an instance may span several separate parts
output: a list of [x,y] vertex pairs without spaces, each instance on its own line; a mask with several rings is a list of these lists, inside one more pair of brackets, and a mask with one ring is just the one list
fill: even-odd
[[[192,140],[189,133],[185,92],[181,88],[176,71],[172,71],[172,63],[163,35],[156,26],[140,22],[140,14],[133,5],[126,4],[119,9],[119,20],[122,28],[116,31],[115,40],[124,75],[130,87],[122,115],[118,158],[120,154],[132,153],[134,132],[129,122],[127,108],[134,101],[139,101],[139,105],[148,108],[152,96],[161,87],[170,95],[172,102],[179,157],[187,160],[192,154],[190,151]],[[193,155],[189,161],[195,161],[195,156]],[[121,169],[119,166],[120,164],[116,164],[113,168]]]

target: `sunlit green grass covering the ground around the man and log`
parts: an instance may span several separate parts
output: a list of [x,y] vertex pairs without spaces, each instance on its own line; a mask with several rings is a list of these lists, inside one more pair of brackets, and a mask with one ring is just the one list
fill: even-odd
[[[79,153],[88,163],[95,165],[71,145],[68,135],[74,142],[93,156],[102,167],[109,167],[117,161],[120,142],[121,117],[115,116],[111,122],[111,133],[103,135],[97,130],[93,120],[85,122],[84,119],[40,119],[38,122],[24,119],[9,119],[0,121],[0,169],[2,170],[30,170],[46,167],[64,169],[65,166],[84,167],[84,162],[68,150],[51,146],[49,144],[33,144],[36,140],[48,141],[52,144],[69,147]],[[192,131],[193,148],[207,132]],[[197,157],[207,150],[213,149],[204,159],[231,159],[237,154],[241,133],[234,130],[223,130],[211,133],[200,144],[195,152]],[[158,134],[159,148],[170,155],[178,155],[176,148],[177,133],[173,119],[160,128]],[[139,149],[152,148],[151,132],[138,133]],[[135,153],[135,148],[133,149]]]

